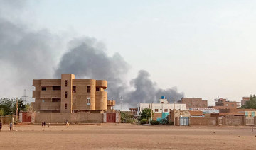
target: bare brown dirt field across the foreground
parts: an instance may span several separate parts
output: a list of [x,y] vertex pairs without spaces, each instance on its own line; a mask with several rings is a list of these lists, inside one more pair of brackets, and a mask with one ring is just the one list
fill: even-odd
[[129,124],[42,128],[16,125],[0,132],[0,149],[256,149],[251,127],[174,127]]

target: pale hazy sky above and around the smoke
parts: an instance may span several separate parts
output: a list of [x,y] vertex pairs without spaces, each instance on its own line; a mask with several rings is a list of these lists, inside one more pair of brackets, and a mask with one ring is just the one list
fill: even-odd
[[[118,52],[130,64],[128,79],[144,69],[159,87],[176,86],[209,105],[217,96],[238,101],[256,93],[256,1],[42,0],[3,9],[12,11],[4,15],[9,21],[46,29],[60,40],[86,36],[103,42],[107,54]],[[65,48],[56,52],[58,58]],[[12,74],[6,67],[0,64]],[[15,84],[6,81],[9,75],[3,78],[1,86]],[[18,88],[14,93],[23,95],[26,87]],[[15,97],[0,91],[1,97]]]

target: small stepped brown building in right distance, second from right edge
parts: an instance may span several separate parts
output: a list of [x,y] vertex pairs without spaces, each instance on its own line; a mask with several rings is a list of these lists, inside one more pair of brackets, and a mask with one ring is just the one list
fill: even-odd
[[236,109],[240,107],[240,102],[227,101],[224,98],[215,99],[215,109]]

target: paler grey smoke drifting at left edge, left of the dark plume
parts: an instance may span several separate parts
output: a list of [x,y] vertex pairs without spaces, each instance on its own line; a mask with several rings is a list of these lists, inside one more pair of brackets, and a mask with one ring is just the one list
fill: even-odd
[[62,44],[48,30],[31,30],[21,23],[17,14],[24,7],[26,1],[0,0],[0,96],[21,97],[26,88],[32,100],[32,80],[53,77]]

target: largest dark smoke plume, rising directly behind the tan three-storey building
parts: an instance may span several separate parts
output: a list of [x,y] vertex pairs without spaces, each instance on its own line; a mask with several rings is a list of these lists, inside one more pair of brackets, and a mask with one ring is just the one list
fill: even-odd
[[76,39],[72,43],[75,43],[75,47],[72,46],[63,54],[55,76],[72,73],[78,79],[105,79],[108,82],[109,98],[122,96],[127,88],[124,75],[129,70],[123,57],[118,53],[107,56],[102,43],[92,38]]

